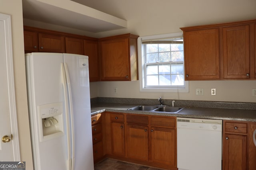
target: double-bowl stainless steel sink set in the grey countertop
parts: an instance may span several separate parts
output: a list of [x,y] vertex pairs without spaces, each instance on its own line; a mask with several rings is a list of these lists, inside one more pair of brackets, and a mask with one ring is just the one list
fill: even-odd
[[134,110],[134,111],[152,111],[152,112],[165,112],[165,113],[178,113],[181,111],[182,107],[170,107],[170,106],[162,106],[162,105],[140,105],[132,107],[128,110]]

